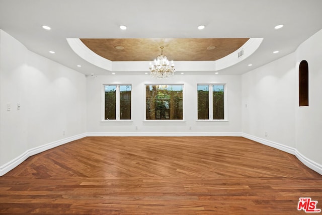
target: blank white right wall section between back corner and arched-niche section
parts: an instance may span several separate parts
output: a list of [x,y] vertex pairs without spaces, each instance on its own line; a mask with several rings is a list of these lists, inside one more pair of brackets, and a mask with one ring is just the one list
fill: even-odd
[[295,148],[294,65],[289,54],[243,75],[244,133]]

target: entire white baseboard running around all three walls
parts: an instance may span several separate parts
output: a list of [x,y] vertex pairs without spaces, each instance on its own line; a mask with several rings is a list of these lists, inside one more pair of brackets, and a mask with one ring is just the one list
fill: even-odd
[[281,150],[283,152],[290,153],[292,155],[295,155],[298,160],[300,160],[304,165],[309,167],[310,169],[316,171],[317,173],[322,175],[322,165],[318,164],[305,156],[303,156],[301,153],[299,153],[295,148],[288,147],[282,144],[278,144],[277,142],[273,142],[267,139],[262,139],[256,136],[252,136],[246,133],[241,132],[167,132],[167,133],[157,133],[157,132],[119,132],[119,133],[110,133],[110,132],[89,132],[89,133],[83,133],[75,136],[71,136],[68,138],[64,138],[61,140],[57,140],[54,142],[50,142],[49,144],[36,147],[33,149],[27,150],[25,153],[20,155],[19,157],[13,159],[12,161],[4,164],[0,167],[0,176],[5,175],[10,170],[17,167],[19,164],[21,164],[23,161],[25,161],[30,156],[36,155],[38,153],[44,152],[46,150],[61,146],[63,144],[66,144],[68,142],[81,139],[83,137],[87,136],[242,136],[247,139],[254,140],[256,142],[259,142],[260,144],[264,144],[266,146],[273,147],[275,149]]

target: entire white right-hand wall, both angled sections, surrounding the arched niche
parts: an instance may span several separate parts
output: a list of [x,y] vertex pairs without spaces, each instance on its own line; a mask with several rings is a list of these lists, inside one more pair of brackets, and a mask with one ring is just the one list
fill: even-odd
[[[292,153],[320,174],[321,50],[322,30],[294,53],[242,76],[244,136]],[[298,67],[302,60],[308,62],[309,68],[308,107],[299,107],[298,101]]]

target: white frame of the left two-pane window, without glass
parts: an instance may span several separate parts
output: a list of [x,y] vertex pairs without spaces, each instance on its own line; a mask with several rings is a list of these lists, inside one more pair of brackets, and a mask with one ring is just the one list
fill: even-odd
[[[120,119],[120,86],[131,86],[131,119]],[[116,119],[105,119],[105,86],[116,86]],[[101,122],[131,122],[132,120],[132,85],[131,84],[102,84],[101,96]]]

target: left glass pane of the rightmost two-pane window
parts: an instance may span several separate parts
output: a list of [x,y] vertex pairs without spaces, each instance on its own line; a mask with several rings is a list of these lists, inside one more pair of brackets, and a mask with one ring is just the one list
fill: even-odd
[[209,85],[198,85],[198,119],[209,119]]

